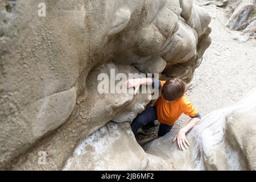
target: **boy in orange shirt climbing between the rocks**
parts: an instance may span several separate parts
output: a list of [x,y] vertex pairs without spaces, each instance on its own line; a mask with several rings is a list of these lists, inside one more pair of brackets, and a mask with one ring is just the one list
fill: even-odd
[[180,150],[184,150],[184,148],[187,150],[190,144],[188,143],[185,134],[199,123],[201,117],[199,112],[185,96],[185,83],[178,78],[171,78],[168,81],[159,81],[152,78],[137,78],[128,80],[125,84],[127,88],[134,87],[135,94],[142,84],[152,86],[158,85],[159,89],[162,90],[155,105],[144,110],[142,113],[139,113],[133,120],[133,123],[131,124],[133,133],[136,134],[140,127],[158,119],[160,122],[158,137],[162,137],[172,129],[176,119],[184,113],[191,117],[191,119],[187,125],[179,130],[172,142],[177,141]]

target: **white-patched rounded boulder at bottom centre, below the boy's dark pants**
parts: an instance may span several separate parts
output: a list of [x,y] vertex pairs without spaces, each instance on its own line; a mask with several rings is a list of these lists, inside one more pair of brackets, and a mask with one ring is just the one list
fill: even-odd
[[144,170],[148,158],[130,124],[109,122],[77,146],[64,170]]

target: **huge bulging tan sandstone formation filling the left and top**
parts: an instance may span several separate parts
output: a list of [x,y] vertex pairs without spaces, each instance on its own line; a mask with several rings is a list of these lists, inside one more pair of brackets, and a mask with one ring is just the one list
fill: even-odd
[[99,94],[99,73],[191,81],[209,22],[192,1],[0,1],[0,169],[62,169],[82,140],[150,102],[133,89]]

